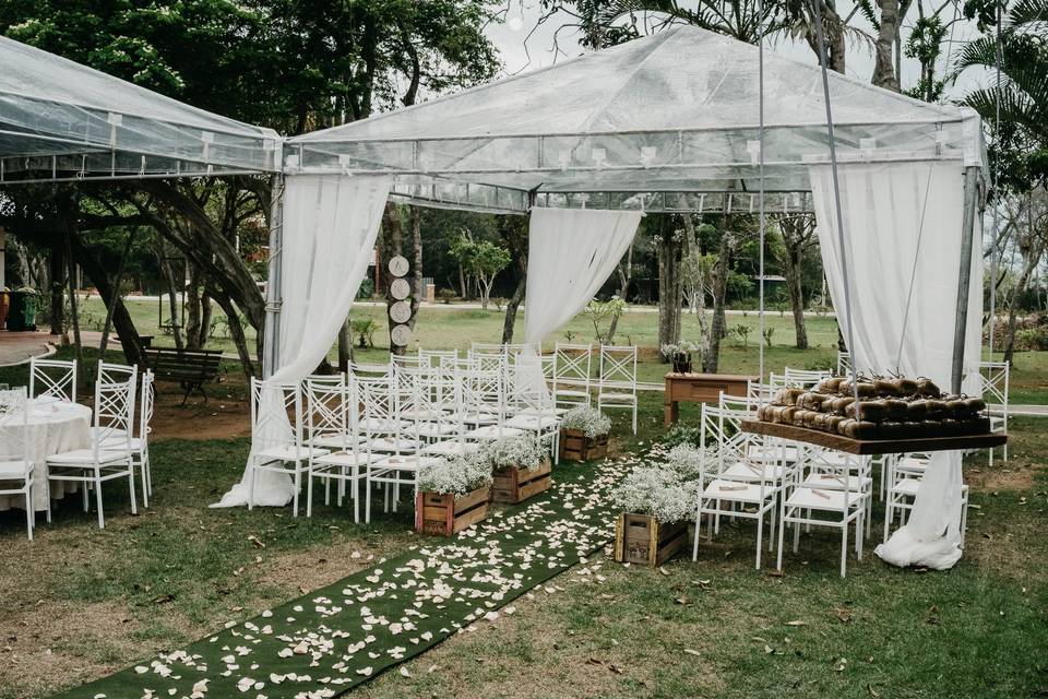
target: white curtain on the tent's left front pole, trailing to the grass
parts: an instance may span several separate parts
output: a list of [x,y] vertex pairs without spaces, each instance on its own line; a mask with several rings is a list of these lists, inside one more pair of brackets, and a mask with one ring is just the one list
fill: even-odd
[[[391,185],[388,176],[287,176],[284,244],[274,251],[282,274],[279,368],[271,381],[303,379],[331,351],[367,274]],[[252,443],[265,437],[252,435]],[[255,476],[255,505],[284,506],[293,495],[286,475],[261,471]],[[245,470],[215,507],[247,501]]]

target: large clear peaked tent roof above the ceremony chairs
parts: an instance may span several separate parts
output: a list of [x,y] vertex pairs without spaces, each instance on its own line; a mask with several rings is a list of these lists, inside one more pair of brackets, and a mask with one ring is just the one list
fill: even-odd
[[[770,211],[810,206],[806,163],[827,153],[818,66],[765,55]],[[386,173],[419,203],[752,209],[758,47],[678,26],[414,107],[288,139],[288,173]],[[974,111],[830,74],[842,161],[963,158]],[[528,192],[535,194],[531,200]]]

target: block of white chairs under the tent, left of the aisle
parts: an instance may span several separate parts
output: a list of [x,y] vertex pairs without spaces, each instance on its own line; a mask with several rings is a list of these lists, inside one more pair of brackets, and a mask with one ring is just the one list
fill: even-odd
[[302,481],[307,516],[313,479],[324,482],[325,502],[336,486],[360,518],[370,521],[373,486],[385,490],[395,510],[402,486],[417,486],[422,467],[440,457],[469,453],[500,437],[531,435],[556,460],[560,416],[547,387],[549,356],[498,348],[425,351],[393,356],[386,365],[350,364],[346,375],[314,376],[303,382],[253,381],[253,448],[249,507],[258,473],[273,471],[293,481],[293,512]]

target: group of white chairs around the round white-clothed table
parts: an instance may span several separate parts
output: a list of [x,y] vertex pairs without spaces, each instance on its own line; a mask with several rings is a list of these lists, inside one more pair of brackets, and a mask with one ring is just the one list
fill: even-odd
[[[78,484],[85,512],[90,509],[88,490],[94,489],[98,526],[104,528],[103,483],[127,477],[131,511],[138,512],[134,488],[138,470],[143,505],[148,507],[153,489],[148,449],[155,395],[152,371],[146,370],[140,377],[138,367],[99,363],[90,446],[51,454],[43,464],[34,465],[31,461],[31,399],[50,398],[74,402],[76,383],[74,362],[33,359],[27,389],[0,391],[0,419],[11,433],[21,434],[21,439],[3,445],[3,453],[0,454],[0,479],[11,485],[0,490],[0,495],[24,497],[29,540],[33,538],[36,526],[36,488],[44,487],[47,493],[46,518],[50,522],[50,484],[55,482]],[[136,402],[139,393],[141,400]],[[11,429],[14,427],[19,429]]]

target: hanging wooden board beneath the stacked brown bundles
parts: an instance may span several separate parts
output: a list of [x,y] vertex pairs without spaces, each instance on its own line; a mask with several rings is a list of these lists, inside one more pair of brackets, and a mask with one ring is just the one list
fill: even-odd
[[783,425],[779,423],[764,423],[755,419],[742,420],[742,431],[802,441],[849,454],[897,454],[912,451],[987,449],[1000,447],[1008,441],[1008,435],[1002,434],[953,435],[950,437],[918,437],[910,439],[851,439],[850,437],[824,433],[818,429]]

